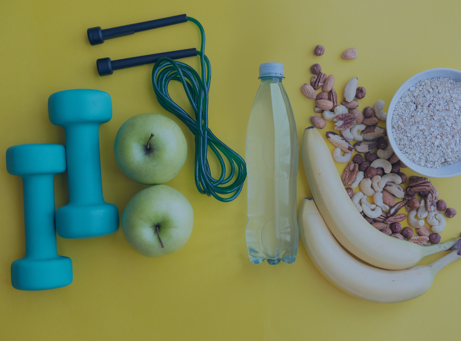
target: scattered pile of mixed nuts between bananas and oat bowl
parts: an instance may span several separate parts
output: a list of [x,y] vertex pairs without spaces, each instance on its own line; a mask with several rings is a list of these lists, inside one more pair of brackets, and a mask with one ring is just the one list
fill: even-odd
[[[317,51],[321,51],[321,54],[317,54]],[[314,54],[322,55],[324,51],[318,45]],[[396,156],[390,143],[384,138],[387,136],[386,129],[377,126],[379,120],[386,120],[384,101],[378,100],[373,108],[367,106],[363,112],[357,109],[358,100],[365,97],[366,90],[358,87],[358,78],[354,77],[346,84],[344,100],[338,105],[337,93],[333,88],[335,78],[333,75],[326,76],[321,70],[319,64],[311,66],[311,72],[316,76],[311,78],[310,84],[301,87],[301,92],[307,98],[316,100],[314,110],[322,114],[322,117],[311,116],[311,122],[316,128],[324,129],[325,120],[336,122],[334,129],[341,135],[327,131],[325,136],[336,147],[333,159],[339,163],[349,162],[343,170],[341,180],[357,210],[373,227],[386,235],[408,239],[420,246],[439,243],[439,233],[446,224],[441,212],[444,211],[447,218],[453,218],[456,210],[447,208],[445,201],[438,199],[437,188],[427,177],[411,176],[408,179],[401,172],[407,166]],[[320,88],[322,91],[316,94],[315,91]],[[349,142],[353,140],[357,142],[351,145]],[[372,152],[375,148],[376,153]],[[341,151],[344,155],[341,155]],[[365,155],[357,153],[352,158],[354,151]],[[349,161],[351,158],[352,161]],[[402,184],[408,180],[408,187],[404,189]],[[353,188],[357,186],[360,186],[360,191],[354,193]],[[419,194],[421,200],[416,198],[416,194]],[[368,197],[372,197],[373,204],[368,201]],[[396,199],[402,201],[396,202]],[[398,213],[403,207],[408,217],[407,214]],[[408,224],[416,229],[418,235],[413,235],[411,227],[402,229],[400,222],[407,218]],[[430,228],[424,225],[424,218]]]

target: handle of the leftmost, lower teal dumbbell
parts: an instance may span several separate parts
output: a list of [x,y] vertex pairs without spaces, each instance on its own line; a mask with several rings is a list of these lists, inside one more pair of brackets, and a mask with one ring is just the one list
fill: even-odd
[[[26,257],[57,258],[54,225],[54,174],[23,178]],[[40,201],[40,205],[37,202]]]

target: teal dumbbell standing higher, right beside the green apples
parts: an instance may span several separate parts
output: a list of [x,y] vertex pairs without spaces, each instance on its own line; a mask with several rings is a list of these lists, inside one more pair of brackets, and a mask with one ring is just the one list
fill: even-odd
[[56,231],[63,238],[94,238],[118,230],[117,206],[102,196],[99,126],[112,118],[111,96],[104,91],[73,89],[48,98],[51,123],[64,127],[69,203],[56,211]]

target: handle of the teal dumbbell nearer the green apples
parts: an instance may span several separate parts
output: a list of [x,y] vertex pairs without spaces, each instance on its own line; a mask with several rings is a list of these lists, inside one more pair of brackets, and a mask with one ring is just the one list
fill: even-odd
[[69,204],[94,205],[104,202],[100,175],[99,124],[77,123],[64,127]]

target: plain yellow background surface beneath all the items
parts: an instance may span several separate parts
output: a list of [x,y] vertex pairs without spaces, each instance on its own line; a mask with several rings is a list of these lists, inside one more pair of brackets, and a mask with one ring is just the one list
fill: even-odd
[[[2,153],[22,143],[65,143],[64,130],[48,120],[50,94],[71,88],[104,90],[113,104],[112,120],[100,127],[105,200],[121,214],[145,187],[118,168],[113,153],[118,128],[135,114],[160,112],[181,126],[188,141],[188,159],[167,185],[188,198],[195,223],[183,249],[157,259],[136,253],[121,229],[95,239],[58,237],[59,254],[73,261],[72,284],[19,291],[11,286],[10,265],[24,257],[22,183],[6,172],[5,158],[0,158],[0,339],[459,339],[461,262],[443,269],[422,297],[389,305],[364,302],[334,287],[313,266],[301,241],[293,265],[251,264],[245,244],[246,185],[231,203],[197,192],[193,135],[156,101],[152,65],[106,77],[98,76],[95,68],[95,60],[103,57],[198,48],[195,25],[136,33],[94,47],[86,29],[182,13],[198,19],[205,28],[213,71],[209,126],[244,156],[260,63],[284,64],[284,86],[301,140],[313,114],[313,100],[299,91],[309,82],[310,65],[318,62],[324,72],[334,74],[338,100],[343,99],[345,83],[357,76],[367,91],[359,108],[382,99],[387,109],[410,76],[437,67],[461,68],[460,12],[460,1],[1,1]],[[325,46],[322,57],[313,55],[317,44]],[[340,58],[349,47],[359,51],[353,61]],[[183,61],[198,66],[198,57]],[[186,105],[180,87],[171,92]],[[55,178],[57,207],[68,200],[66,179],[66,174]],[[433,182],[448,206],[460,211],[460,177]],[[301,162],[297,190],[300,205],[310,195]],[[442,238],[460,232],[455,217]],[[425,264],[440,256],[425,259]]]

